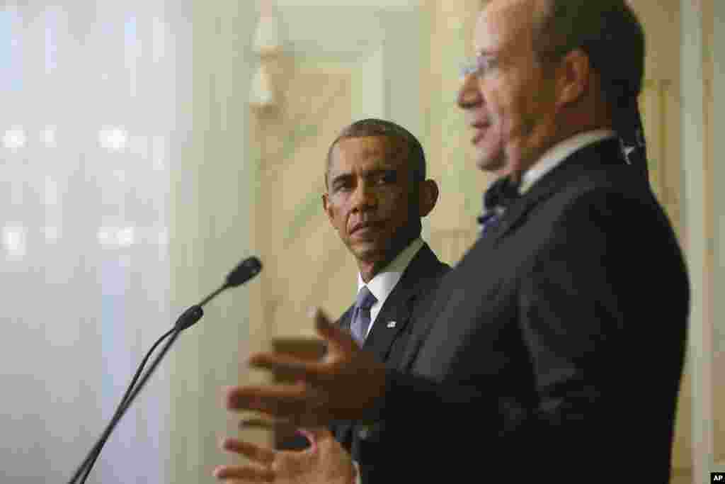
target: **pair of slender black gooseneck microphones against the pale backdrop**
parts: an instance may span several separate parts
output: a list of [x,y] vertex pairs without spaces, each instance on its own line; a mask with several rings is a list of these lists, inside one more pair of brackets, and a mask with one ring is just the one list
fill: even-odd
[[[107,425],[106,429],[103,433],[101,433],[101,436],[98,440],[96,440],[96,444],[91,448],[91,451],[88,451],[88,454],[86,455],[86,459],[83,459],[83,462],[78,466],[78,469],[76,469],[75,474],[73,477],[71,477],[70,481],[68,481],[69,484],[73,484],[78,481],[80,478],[80,483],[85,483],[86,479],[88,478],[88,475],[91,473],[91,469],[93,468],[94,464],[96,463],[96,459],[98,459],[99,454],[101,454],[101,449],[105,445],[106,441],[108,440],[109,436],[111,435],[111,432],[115,429],[116,425],[120,421],[121,417],[123,417],[123,414],[125,414],[126,410],[130,407],[131,403],[136,399],[136,396],[141,391],[141,389],[146,385],[146,382],[149,380],[149,377],[153,374],[154,370],[159,366],[159,363],[161,363],[162,358],[166,355],[167,351],[170,349],[171,345],[175,342],[176,338],[178,337],[179,333],[181,333],[184,329],[192,326],[195,324],[199,319],[202,319],[202,316],[204,316],[204,310],[202,309],[202,306],[207,304],[210,300],[214,299],[217,295],[219,295],[220,292],[223,292],[224,290],[228,289],[229,287],[238,287],[241,286],[241,284],[244,284],[245,282],[249,281],[249,279],[252,279],[254,276],[260,273],[262,271],[262,262],[256,258],[256,257],[249,257],[244,259],[244,261],[241,261],[229,274],[227,274],[224,284],[219,287],[218,290],[215,290],[210,295],[208,295],[206,298],[202,300],[199,304],[195,304],[188,308],[186,311],[184,311],[181,316],[178,317],[176,320],[174,326],[172,329],[167,331],[162,337],[160,337],[156,343],[151,347],[148,353],[146,353],[146,356],[144,356],[144,359],[141,361],[141,364],[138,366],[138,370],[136,370],[136,374],[133,376],[133,379],[130,382],[130,385],[128,385],[128,388],[126,389],[126,392],[123,395],[123,398],[121,398],[121,403],[119,403],[118,408],[116,409],[111,421]],[[151,366],[149,366],[149,369],[146,370],[146,373],[144,373],[144,376],[141,377],[141,381],[138,382],[138,385],[136,385],[136,380],[138,380],[138,377],[141,376],[141,370],[144,369],[144,365],[146,364],[146,361],[149,359],[149,356],[152,355],[154,352],[154,349],[161,343],[163,340],[165,340],[167,337],[171,337],[170,340],[166,342],[166,345],[164,348],[161,349],[159,354],[156,358],[154,358],[154,361],[152,361]],[[134,386],[135,385],[135,386]],[[83,477],[80,477],[81,474],[83,474]]]

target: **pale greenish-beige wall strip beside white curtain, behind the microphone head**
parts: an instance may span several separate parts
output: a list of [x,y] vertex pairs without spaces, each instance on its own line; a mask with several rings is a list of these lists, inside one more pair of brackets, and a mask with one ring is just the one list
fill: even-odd
[[[253,2],[194,2],[193,129],[172,160],[170,267],[174,316],[215,290],[249,250],[247,96],[252,75]],[[169,354],[171,483],[213,483],[217,447],[236,423],[220,406],[223,385],[247,374],[249,288],[220,295]]]

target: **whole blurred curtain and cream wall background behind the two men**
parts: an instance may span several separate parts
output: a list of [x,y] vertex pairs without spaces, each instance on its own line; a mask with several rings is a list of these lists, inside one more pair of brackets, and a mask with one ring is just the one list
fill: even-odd
[[[337,315],[354,298],[320,200],[352,120],[421,139],[441,187],[424,238],[455,263],[490,181],[455,107],[481,3],[0,3],[0,480],[66,482],[154,340],[256,254],[260,277],[181,335],[88,479],[215,482],[231,460],[217,440],[238,432],[220,388],[263,378],[243,361],[273,338],[304,347],[309,306]],[[631,3],[651,182],[692,278],[672,482],[708,482],[725,470],[725,3]],[[642,324],[647,358],[660,321]]]

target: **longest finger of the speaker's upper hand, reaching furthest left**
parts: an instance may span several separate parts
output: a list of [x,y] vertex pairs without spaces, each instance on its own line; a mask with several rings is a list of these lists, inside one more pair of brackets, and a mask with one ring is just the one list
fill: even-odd
[[308,408],[305,385],[228,387],[223,405],[229,410],[256,410],[274,417],[289,418]]

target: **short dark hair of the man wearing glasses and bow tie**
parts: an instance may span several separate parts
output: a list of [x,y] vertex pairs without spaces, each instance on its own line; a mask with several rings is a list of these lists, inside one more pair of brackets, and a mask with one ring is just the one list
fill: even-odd
[[539,60],[581,49],[597,71],[602,94],[616,108],[636,99],[645,75],[645,32],[626,0],[544,0],[534,27]]

